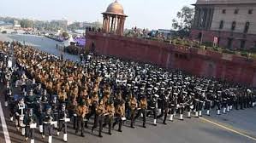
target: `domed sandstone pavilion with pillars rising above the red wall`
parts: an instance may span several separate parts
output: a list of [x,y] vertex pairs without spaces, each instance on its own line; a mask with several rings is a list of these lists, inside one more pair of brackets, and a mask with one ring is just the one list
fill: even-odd
[[123,35],[124,22],[128,17],[123,12],[122,5],[117,1],[110,3],[106,12],[102,13],[104,17],[103,31],[107,33],[114,33],[117,35]]

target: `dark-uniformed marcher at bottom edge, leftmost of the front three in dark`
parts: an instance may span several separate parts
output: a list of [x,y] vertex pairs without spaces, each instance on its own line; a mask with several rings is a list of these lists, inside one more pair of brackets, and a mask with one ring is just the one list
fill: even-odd
[[34,143],[34,129],[36,129],[37,116],[33,113],[33,109],[29,109],[24,117],[23,123],[26,125],[25,140],[31,138],[31,143]]

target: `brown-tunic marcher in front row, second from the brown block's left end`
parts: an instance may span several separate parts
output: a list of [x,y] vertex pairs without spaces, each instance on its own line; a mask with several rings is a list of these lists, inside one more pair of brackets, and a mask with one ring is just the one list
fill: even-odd
[[94,125],[92,127],[92,133],[93,133],[93,130],[96,129],[99,124],[99,132],[98,132],[99,137],[103,137],[101,132],[103,129],[104,116],[106,114],[107,113],[105,111],[104,100],[100,100],[98,106],[96,107],[96,120],[95,120],[96,122],[94,123]]

